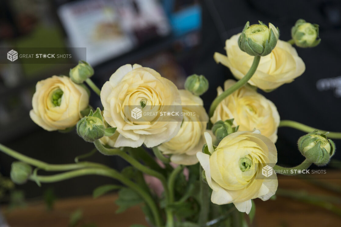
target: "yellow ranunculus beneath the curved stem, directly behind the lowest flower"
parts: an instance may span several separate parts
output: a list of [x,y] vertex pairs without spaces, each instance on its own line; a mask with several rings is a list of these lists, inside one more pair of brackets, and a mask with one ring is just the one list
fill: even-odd
[[[224,89],[231,87],[236,82],[226,80]],[[218,95],[223,93],[221,87],[217,88]],[[239,125],[240,131],[250,131],[254,128],[261,131],[273,143],[277,141],[277,128],[280,117],[273,102],[266,99],[248,86],[243,86],[227,96],[219,103],[211,117],[211,122],[234,118],[233,125]]]

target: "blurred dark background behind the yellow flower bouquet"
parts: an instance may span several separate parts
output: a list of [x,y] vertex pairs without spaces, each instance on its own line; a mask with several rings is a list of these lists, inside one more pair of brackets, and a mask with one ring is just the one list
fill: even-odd
[[[296,48],[306,71],[293,83],[263,93],[275,103],[281,119],[299,121],[330,131],[341,131],[341,2],[338,0],[1,0],[1,47],[86,47],[94,66],[92,80],[101,87],[123,64],[154,68],[183,88],[191,74],[205,75],[210,88],[202,98],[208,105],[217,86],[233,78],[217,65],[214,52],[225,53],[225,40],[239,33],[246,21],[271,22],[280,39],[291,39],[299,18],[320,25],[322,42],[315,48]],[[93,145],[75,131],[47,132],[29,117],[35,83],[52,75],[68,75],[70,64],[0,64],[0,143],[48,163],[72,163]],[[327,84],[324,89],[321,83]],[[320,85],[319,85],[320,84]],[[101,106],[92,93],[90,104]],[[290,128],[278,131],[280,164],[299,164],[303,157],[297,139],[303,133]],[[341,142],[336,140],[336,147]],[[337,159],[341,155],[336,153]],[[0,171],[9,176],[12,159],[0,152]],[[123,168],[115,157],[93,156],[93,161]],[[18,186],[27,198],[41,196],[53,186],[58,197],[90,194],[112,180],[88,176],[39,188],[34,182]]]

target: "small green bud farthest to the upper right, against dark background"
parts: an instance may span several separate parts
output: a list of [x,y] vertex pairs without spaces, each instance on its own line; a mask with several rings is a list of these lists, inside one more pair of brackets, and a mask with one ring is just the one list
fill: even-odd
[[291,29],[291,37],[295,45],[302,48],[316,47],[321,38],[318,37],[318,25],[306,22],[303,19],[296,21]]

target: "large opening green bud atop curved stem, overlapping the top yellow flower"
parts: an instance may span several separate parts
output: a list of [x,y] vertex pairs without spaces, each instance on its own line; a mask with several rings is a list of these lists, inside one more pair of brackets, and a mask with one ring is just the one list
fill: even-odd
[[259,25],[251,25],[246,22],[238,39],[239,48],[251,56],[265,56],[276,47],[279,38],[279,30],[272,23],[269,27],[262,21]]

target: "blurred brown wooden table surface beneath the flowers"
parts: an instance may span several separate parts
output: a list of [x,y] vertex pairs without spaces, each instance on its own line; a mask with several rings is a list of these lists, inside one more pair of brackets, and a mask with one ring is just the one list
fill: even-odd
[[[330,179],[341,179],[340,172],[330,174]],[[334,176],[334,177],[333,177]],[[341,180],[322,180],[341,186]],[[307,180],[292,179],[279,176],[279,187],[288,190],[306,190],[312,194],[340,194],[322,189]],[[109,194],[96,199],[92,197],[69,198],[56,201],[53,211],[47,211],[43,202],[29,204],[28,208],[16,209],[11,212],[2,211],[11,227],[66,227],[69,215],[81,209],[86,223],[95,223],[97,227],[129,227],[132,224],[147,225],[143,212],[138,207],[128,209],[121,214],[115,214],[114,204],[117,194]],[[277,196],[276,200],[262,201],[255,199],[256,217],[252,224],[255,227],[338,227],[341,217],[313,205],[304,204],[293,199]],[[340,207],[340,206],[339,206]],[[340,207],[341,208],[341,207]]]

